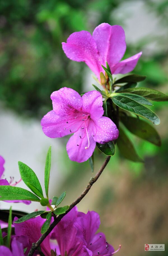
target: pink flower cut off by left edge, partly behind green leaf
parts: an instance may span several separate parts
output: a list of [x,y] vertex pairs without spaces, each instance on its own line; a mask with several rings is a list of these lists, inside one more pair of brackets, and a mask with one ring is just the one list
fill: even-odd
[[[14,177],[10,177],[10,181],[8,182],[6,179],[2,179],[3,178],[3,174],[4,174],[4,163],[5,160],[4,158],[0,155],[0,186],[2,185],[10,185],[10,186],[16,186],[20,181],[22,181],[22,179],[20,179],[18,182],[14,182]],[[15,201],[6,201],[6,202],[13,202],[13,203],[18,203],[18,202],[22,202],[24,204],[31,204],[31,201],[28,200],[15,200]]]

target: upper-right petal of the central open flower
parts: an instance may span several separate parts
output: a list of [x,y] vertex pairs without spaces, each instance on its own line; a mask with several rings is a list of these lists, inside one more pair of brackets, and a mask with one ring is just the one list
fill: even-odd
[[90,113],[91,119],[98,119],[102,117],[104,110],[102,107],[102,95],[100,92],[91,91],[83,94],[82,96],[83,106],[82,111]]

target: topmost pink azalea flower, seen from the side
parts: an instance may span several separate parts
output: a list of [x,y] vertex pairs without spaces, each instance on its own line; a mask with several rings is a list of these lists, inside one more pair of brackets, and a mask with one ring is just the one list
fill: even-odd
[[73,61],[84,61],[89,68],[100,78],[104,73],[101,65],[109,64],[112,74],[126,74],[131,72],[142,52],[120,61],[125,54],[125,33],[121,26],[111,26],[102,23],[97,26],[91,35],[82,30],[71,34],[67,43],[62,43],[62,48],[67,57]]

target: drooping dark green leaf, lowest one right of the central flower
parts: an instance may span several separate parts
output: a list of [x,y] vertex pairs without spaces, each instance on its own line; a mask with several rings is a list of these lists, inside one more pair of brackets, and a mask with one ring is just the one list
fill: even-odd
[[125,132],[121,129],[121,127],[119,128],[119,136],[118,136],[118,139],[116,140],[116,143],[123,157],[133,162],[143,162],[143,160],[139,157],[139,155],[137,155],[132,142],[127,137]]

